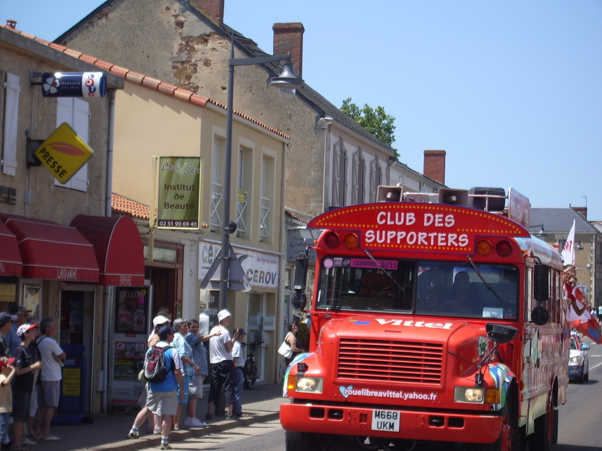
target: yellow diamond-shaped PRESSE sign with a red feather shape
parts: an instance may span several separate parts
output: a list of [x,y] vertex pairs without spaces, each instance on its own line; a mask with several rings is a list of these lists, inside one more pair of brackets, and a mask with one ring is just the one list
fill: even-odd
[[61,183],[69,182],[94,152],[63,122],[36,150],[36,157]]

